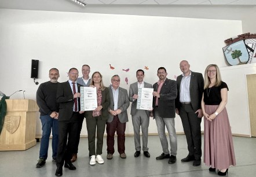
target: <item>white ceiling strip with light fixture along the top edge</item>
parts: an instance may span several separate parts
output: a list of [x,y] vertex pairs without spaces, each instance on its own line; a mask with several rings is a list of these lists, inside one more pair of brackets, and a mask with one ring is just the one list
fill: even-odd
[[80,0],[87,5],[78,5],[71,0],[0,0],[0,9],[23,9],[23,10],[49,10],[72,12],[101,5],[156,5],[156,6],[179,6],[179,5],[210,5],[210,6],[233,6],[233,5],[256,5],[256,0]]

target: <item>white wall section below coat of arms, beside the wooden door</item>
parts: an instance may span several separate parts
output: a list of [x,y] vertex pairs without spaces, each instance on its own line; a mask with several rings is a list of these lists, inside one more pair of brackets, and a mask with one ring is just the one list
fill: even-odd
[[220,69],[222,80],[229,87],[226,109],[228,110],[232,133],[251,136],[246,75],[256,73],[256,64]]

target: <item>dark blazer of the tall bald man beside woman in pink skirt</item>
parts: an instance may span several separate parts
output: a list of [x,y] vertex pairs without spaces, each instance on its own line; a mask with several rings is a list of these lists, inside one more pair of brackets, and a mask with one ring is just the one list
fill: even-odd
[[[180,107],[181,107],[181,103],[180,103],[181,79],[182,79],[182,75],[177,77],[178,95],[177,95],[177,98],[175,99],[175,106],[176,106],[176,108],[178,108],[179,111],[180,111]],[[189,92],[190,92],[190,97],[191,97],[191,105],[192,105],[194,112],[196,112],[196,110],[198,110],[198,109],[201,109],[203,86],[204,86],[204,80],[203,80],[202,73],[191,71]]]

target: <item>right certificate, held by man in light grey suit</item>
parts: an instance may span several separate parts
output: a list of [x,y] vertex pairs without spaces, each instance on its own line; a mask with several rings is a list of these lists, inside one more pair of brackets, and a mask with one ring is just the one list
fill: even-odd
[[138,88],[137,109],[152,110],[153,89]]

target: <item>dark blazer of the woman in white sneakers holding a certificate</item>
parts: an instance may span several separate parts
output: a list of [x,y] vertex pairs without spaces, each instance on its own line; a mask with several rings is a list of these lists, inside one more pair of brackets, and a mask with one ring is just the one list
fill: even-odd
[[[103,108],[101,109],[101,118],[102,120],[108,119],[108,106],[110,104],[110,97],[109,97],[109,90],[108,88],[105,88],[103,91],[101,91],[102,98],[101,98],[101,106]],[[93,111],[89,110],[85,112],[86,118],[92,118],[93,117]]]

